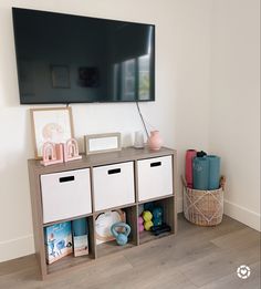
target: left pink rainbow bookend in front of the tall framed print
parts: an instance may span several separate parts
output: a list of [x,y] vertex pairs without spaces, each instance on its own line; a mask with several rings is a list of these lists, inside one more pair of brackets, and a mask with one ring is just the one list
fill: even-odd
[[63,163],[63,144],[46,142],[43,144],[41,164],[44,166]]

